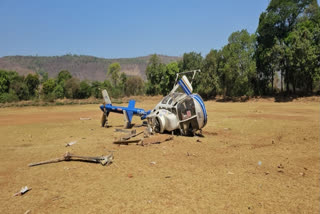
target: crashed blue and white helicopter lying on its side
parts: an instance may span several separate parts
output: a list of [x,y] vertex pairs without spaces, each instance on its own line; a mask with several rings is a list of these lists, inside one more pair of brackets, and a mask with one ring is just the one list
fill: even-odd
[[[171,92],[165,96],[152,110],[145,111],[135,108],[135,100],[130,100],[128,107],[113,106],[106,90],[102,91],[105,103],[100,106],[103,112],[101,126],[107,125],[110,112],[124,115],[125,128],[131,127],[133,115],[137,115],[141,120],[147,120],[147,126],[151,132],[164,133],[174,132],[177,135],[193,136],[197,131],[201,131],[207,124],[208,116],[204,102],[200,95],[192,93],[192,81],[196,72],[200,70],[178,73],[175,85]],[[183,75],[178,80],[180,74],[193,73],[192,81]],[[178,92],[178,89],[183,92]]]

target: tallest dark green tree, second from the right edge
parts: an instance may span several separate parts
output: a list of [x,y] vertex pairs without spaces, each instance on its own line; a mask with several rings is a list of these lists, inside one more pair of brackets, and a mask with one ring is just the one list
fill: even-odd
[[[296,66],[292,64],[293,58],[290,59],[293,40],[289,37],[303,17],[316,18],[318,10],[316,0],[270,1],[266,12],[260,15],[257,29],[256,64],[262,87],[268,87],[269,83],[273,86],[275,69],[279,69],[286,91],[289,92],[290,84],[295,88],[296,70],[293,67]],[[319,23],[319,19],[316,22]]]

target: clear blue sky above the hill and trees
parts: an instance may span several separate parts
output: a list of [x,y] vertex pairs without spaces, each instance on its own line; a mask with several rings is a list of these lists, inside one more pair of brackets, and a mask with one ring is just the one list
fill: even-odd
[[254,33],[269,0],[0,0],[0,57],[205,56]]

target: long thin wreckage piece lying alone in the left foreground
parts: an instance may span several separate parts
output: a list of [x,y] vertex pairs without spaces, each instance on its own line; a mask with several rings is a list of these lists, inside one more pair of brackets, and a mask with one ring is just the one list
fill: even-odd
[[79,155],[72,155],[69,152],[66,152],[63,157],[61,158],[55,158],[47,161],[42,161],[38,163],[31,163],[28,166],[38,166],[43,164],[49,164],[49,163],[58,163],[61,161],[85,161],[85,162],[93,162],[93,163],[101,163],[104,165],[110,165],[113,162],[113,152],[111,152],[109,155],[106,156],[99,156],[99,157],[87,157],[87,156],[79,156]]

